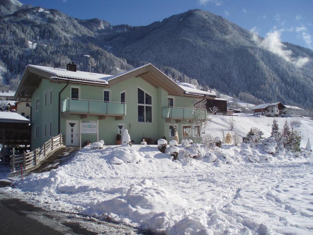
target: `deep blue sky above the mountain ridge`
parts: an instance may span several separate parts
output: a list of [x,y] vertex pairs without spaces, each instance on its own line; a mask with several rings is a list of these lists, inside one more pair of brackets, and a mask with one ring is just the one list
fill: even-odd
[[21,0],[59,9],[74,18],[99,18],[110,24],[148,25],[190,9],[202,9],[253,30],[262,37],[277,32],[283,42],[313,49],[313,0]]

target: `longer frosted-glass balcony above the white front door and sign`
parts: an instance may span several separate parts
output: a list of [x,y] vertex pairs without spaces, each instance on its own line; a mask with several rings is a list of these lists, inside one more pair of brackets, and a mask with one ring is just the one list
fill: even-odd
[[126,103],[65,98],[61,100],[61,113],[62,118],[76,114],[81,115],[81,118],[91,115],[99,116],[99,119],[115,117],[116,120],[122,120],[126,115]]

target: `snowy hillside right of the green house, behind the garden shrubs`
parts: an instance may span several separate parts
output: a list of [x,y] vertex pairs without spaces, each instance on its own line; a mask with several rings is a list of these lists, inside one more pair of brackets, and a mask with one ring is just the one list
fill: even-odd
[[264,133],[263,137],[266,138],[270,136],[273,120],[276,119],[280,130],[283,128],[286,120],[289,124],[290,122],[294,123],[294,128],[299,130],[303,136],[300,145],[302,148],[305,148],[308,138],[311,138],[311,140],[313,139],[313,120],[311,118],[269,118],[245,114],[239,116],[209,115],[208,117],[212,121],[205,133],[210,134],[213,137],[222,137],[223,131],[225,135],[228,131],[232,133],[230,130],[230,122],[233,120],[233,131],[238,132],[241,136],[246,136],[250,128],[257,127]]

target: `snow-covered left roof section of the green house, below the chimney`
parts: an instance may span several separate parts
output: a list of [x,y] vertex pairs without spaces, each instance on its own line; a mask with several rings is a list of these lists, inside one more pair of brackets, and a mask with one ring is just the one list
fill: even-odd
[[69,71],[66,69],[60,69],[60,68],[52,68],[52,67],[45,67],[45,66],[39,66],[39,65],[28,65],[29,67],[33,67],[39,70],[42,70],[44,72],[53,74],[57,77],[61,78],[69,78],[74,80],[82,80],[82,81],[91,81],[91,82],[97,82],[101,84],[108,84],[107,78],[111,77],[112,75],[107,74],[99,74],[99,73],[89,73],[89,72],[83,72],[83,71]]

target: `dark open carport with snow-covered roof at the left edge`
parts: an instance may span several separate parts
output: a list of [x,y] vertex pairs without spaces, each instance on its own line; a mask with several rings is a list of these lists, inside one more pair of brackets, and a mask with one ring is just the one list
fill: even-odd
[[[0,144],[5,145],[30,145],[31,128],[30,120],[16,112],[0,112]],[[2,151],[2,163],[4,163]]]

